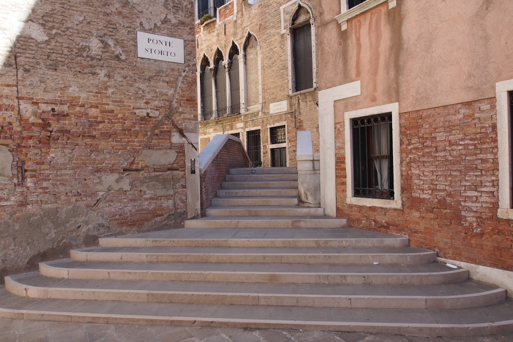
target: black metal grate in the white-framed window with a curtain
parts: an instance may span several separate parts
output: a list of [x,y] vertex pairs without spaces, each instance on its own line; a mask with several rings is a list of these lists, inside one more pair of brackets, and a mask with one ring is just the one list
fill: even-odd
[[393,199],[392,113],[351,120],[354,196]]

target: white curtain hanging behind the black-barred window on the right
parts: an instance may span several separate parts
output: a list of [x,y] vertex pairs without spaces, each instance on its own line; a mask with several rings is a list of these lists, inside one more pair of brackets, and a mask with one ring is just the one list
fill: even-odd
[[374,168],[378,174],[379,189],[388,188],[388,144],[389,125],[372,126],[372,154],[374,155]]

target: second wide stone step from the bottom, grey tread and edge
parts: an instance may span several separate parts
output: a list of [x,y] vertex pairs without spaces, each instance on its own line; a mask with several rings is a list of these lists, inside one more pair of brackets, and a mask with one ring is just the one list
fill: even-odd
[[6,277],[9,292],[31,298],[143,303],[325,308],[454,309],[497,304],[506,291],[476,281],[424,286],[249,284],[195,281],[61,279],[37,272]]

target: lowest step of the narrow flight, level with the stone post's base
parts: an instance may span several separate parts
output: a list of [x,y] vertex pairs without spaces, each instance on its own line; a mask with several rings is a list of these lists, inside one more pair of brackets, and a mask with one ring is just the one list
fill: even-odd
[[323,208],[300,206],[208,207],[205,216],[323,216]]

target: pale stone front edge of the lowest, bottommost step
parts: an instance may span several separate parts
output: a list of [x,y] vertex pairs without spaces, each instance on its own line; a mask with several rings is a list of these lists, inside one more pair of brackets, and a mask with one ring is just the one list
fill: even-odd
[[67,321],[71,323],[163,325],[184,327],[231,327],[252,329],[301,329],[373,334],[419,336],[468,336],[499,334],[513,330],[513,319],[473,324],[412,324],[386,322],[335,322],[299,320],[272,320],[247,318],[216,318],[186,316],[156,316],[144,314],[112,314],[91,312],[66,312],[50,310],[16,310],[0,308],[0,316],[10,319]]

